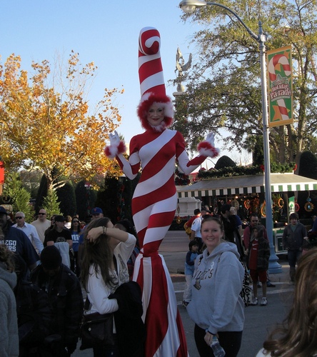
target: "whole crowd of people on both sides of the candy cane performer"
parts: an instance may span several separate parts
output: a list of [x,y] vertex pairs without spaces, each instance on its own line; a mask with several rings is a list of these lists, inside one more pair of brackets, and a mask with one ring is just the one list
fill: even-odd
[[[225,218],[230,211],[227,208],[220,210]],[[40,212],[44,214],[34,221],[35,226],[33,222],[25,222],[21,211],[15,213],[16,223],[11,224],[6,210],[0,206],[0,291],[4,302],[1,304],[1,356],[74,353],[84,313],[83,289],[89,301],[89,313],[114,314],[114,342],[96,343],[94,356],[146,356],[142,312],[129,311],[126,303],[131,287],[126,290],[125,285],[131,282],[134,270],[133,263],[129,264],[136,261],[139,253],[134,227],[126,220],[114,225],[98,207],[92,210],[91,222],[84,229],[80,228],[78,216],[71,219],[70,228],[65,228],[63,216],[51,216],[47,220],[46,211]],[[258,283],[261,283],[261,306],[266,306],[270,256],[267,233],[256,213],[251,214],[250,224],[243,230],[245,239],[240,236],[240,221],[236,218],[233,221],[236,229],[230,226],[226,236],[221,217],[211,216],[205,207],[195,213],[191,224],[196,230],[186,254],[183,306],[195,324],[193,333],[199,356],[216,356],[215,346],[225,353],[220,356],[237,356],[245,308],[240,295],[244,275],[241,261],[246,261],[253,281],[251,305],[258,304]],[[194,224],[197,218],[198,223]],[[278,326],[264,341],[258,356],[313,356],[317,352],[313,342],[314,317],[309,312],[314,308],[310,291],[314,291],[316,279],[311,268],[317,261],[317,250],[308,251],[308,233],[298,221],[297,213],[291,213],[289,219],[283,246],[288,250],[290,279],[296,283],[293,306],[283,326]],[[198,239],[197,224],[200,225]],[[40,236],[44,237],[43,241]],[[243,246],[243,257],[237,238]],[[59,243],[74,247],[76,259],[72,265],[63,263],[63,248]],[[137,295],[142,305],[140,288]],[[137,316],[131,318],[133,312]],[[124,347],[127,341],[124,327],[130,331],[129,351]],[[298,333],[306,330],[307,333]]]

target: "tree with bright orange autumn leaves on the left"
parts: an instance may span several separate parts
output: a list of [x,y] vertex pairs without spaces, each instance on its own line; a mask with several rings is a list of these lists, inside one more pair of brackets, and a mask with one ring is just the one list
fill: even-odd
[[74,51],[66,66],[59,60],[51,69],[44,60],[31,69],[31,74],[21,69],[14,54],[0,65],[0,154],[7,171],[39,170],[49,189],[74,175],[91,179],[113,171],[103,149],[121,121],[113,102],[123,90],[105,89],[103,99],[89,106],[97,67],[82,65]]

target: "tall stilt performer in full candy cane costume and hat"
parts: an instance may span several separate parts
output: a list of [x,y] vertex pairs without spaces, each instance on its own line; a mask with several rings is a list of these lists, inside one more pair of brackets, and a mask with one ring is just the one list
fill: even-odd
[[[147,326],[146,356],[187,356],[185,333],[177,311],[173,284],[158,248],[175,216],[175,163],[190,174],[208,156],[218,156],[214,136],[198,144],[198,156],[189,159],[180,132],[168,129],[173,123],[173,105],[166,96],[160,56],[161,38],[157,29],[146,27],[139,36],[139,79],[141,101],[137,114],[143,134],[130,142],[130,156],[119,135],[109,135],[105,154],[116,158],[126,177],[133,180],[142,166],[132,213],[141,252],[134,266],[134,281],[143,291],[144,321]],[[155,268],[154,268],[155,267]]]

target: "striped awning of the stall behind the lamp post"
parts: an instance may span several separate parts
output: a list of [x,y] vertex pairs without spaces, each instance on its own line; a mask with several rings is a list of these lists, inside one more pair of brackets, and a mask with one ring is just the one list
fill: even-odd
[[[317,190],[317,181],[294,174],[271,174],[271,192]],[[236,196],[264,193],[264,175],[234,176],[202,180],[177,186],[178,198],[202,196]]]

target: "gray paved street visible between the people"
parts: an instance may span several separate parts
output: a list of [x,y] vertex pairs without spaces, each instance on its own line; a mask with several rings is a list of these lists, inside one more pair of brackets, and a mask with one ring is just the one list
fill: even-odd
[[[183,231],[168,231],[161,244],[160,253],[164,256],[168,271],[171,273],[176,293],[178,309],[181,313],[183,328],[186,333],[188,352],[190,357],[199,357],[193,339],[193,322],[188,317],[186,308],[181,306],[185,277],[183,266],[188,251],[188,238]],[[292,300],[293,286],[288,283],[288,264],[281,258],[282,273],[271,274],[271,281],[275,288],[268,288],[268,306],[248,306],[245,310],[246,321],[243,329],[243,339],[238,357],[254,357],[262,347],[268,331],[285,318]],[[259,289],[261,296],[261,288]],[[92,350],[79,351],[73,356],[93,356]],[[172,357],[172,356],[164,356]]]

